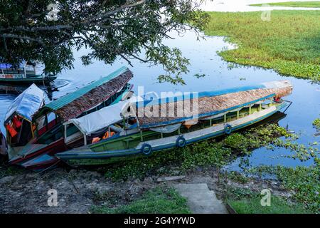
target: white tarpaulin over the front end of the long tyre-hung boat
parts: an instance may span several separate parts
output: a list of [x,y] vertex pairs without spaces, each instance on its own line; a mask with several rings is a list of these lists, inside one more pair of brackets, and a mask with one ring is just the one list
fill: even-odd
[[120,101],[80,118],[71,119],[67,123],[64,123],[64,125],[73,123],[83,134],[90,135],[121,121],[122,116],[120,114],[129,102],[130,100]]

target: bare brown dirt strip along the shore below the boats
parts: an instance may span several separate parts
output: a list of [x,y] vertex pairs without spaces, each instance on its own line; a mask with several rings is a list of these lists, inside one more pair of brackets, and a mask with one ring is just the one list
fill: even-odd
[[[158,182],[158,176],[144,180],[112,182],[99,172],[63,168],[42,174],[22,172],[0,178],[0,213],[90,213],[95,205],[117,207],[137,199],[156,186],[170,187],[177,182],[207,183],[218,197],[223,197],[226,186],[250,190],[270,188],[274,195],[287,195],[275,181],[252,180],[245,184],[220,178],[215,170],[198,170],[186,174],[182,180]],[[57,191],[57,206],[48,206],[48,191]]]

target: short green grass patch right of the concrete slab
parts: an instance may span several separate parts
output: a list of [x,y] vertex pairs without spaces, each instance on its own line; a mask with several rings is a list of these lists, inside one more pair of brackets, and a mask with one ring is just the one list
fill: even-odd
[[271,196],[270,206],[262,207],[262,195],[258,192],[233,188],[228,192],[226,202],[239,214],[304,214],[308,213],[302,204],[288,202],[287,199]]

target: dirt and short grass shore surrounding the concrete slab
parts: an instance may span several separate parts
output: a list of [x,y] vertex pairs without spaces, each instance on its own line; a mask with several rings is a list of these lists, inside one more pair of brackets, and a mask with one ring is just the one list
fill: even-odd
[[[311,212],[292,201],[292,192],[277,180],[218,175],[215,169],[196,169],[181,180],[164,182],[158,175],[114,182],[100,172],[62,168],[42,175],[15,172],[0,178],[0,213],[190,213],[186,199],[173,190],[177,183],[206,183],[239,213]],[[48,206],[51,189],[58,193],[56,207]],[[256,204],[262,189],[271,190],[271,207]],[[246,209],[244,201],[249,202]]]

